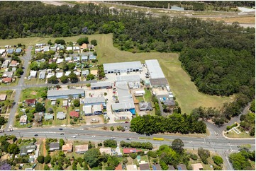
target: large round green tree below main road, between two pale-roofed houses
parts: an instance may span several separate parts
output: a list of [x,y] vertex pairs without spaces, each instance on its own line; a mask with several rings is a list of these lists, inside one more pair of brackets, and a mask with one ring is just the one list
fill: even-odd
[[84,160],[89,165],[89,167],[96,167],[99,165],[101,153],[98,148],[90,148],[86,153],[84,153]]

